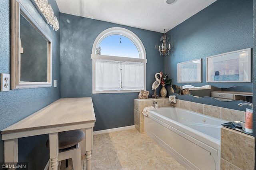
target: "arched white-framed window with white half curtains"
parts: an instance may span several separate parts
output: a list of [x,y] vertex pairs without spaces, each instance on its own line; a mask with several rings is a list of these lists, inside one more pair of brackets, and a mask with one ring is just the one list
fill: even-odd
[[92,47],[93,93],[139,92],[146,88],[146,51],[124,28],[109,28]]

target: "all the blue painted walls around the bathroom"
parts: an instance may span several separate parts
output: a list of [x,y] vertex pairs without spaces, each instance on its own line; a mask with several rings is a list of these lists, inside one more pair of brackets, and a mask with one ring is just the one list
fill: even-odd
[[[96,114],[94,130],[134,125],[134,99],[138,97],[138,93],[92,94],[92,61],[90,59],[92,44],[100,32],[110,27],[119,26],[134,32],[142,40],[146,48],[148,59],[146,89],[150,91],[151,97],[153,94],[151,85],[154,81],[154,74],[164,71],[164,58],[159,56],[155,48],[156,45],[160,44],[159,38],[162,34],[88,18],[59,14],[55,1],[48,1],[54,9],[61,29],[58,32],[54,32],[48,28],[43,20],[40,25],[53,40],[52,79],[57,79],[58,87],[0,92],[0,129],[2,130],[16,123],[59,99],[60,91],[62,98],[92,97]],[[41,20],[30,0],[22,0],[22,2],[26,4],[26,8],[38,20]],[[202,58],[204,65],[203,82],[205,82],[205,57],[252,47],[252,44],[255,47],[256,38],[253,39],[254,43],[252,43],[252,0],[244,2],[243,0],[218,0],[168,32],[172,36],[174,52],[171,56],[165,58],[165,69],[173,83],[177,82],[176,67],[179,62]],[[253,0],[253,2],[255,14],[256,0]],[[0,0],[0,73],[10,73],[10,14],[10,0]],[[71,21],[70,24],[66,22],[67,19]],[[255,33],[255,21],[253,28]],[[255,56],[255,54],[253,55]],[[256,66],[255,62],[253,62],[253,66]],[[204,85],[207,83],[199,84]],[[255,84],[255,80],[253,80],[253,83],[245,83],[246,86],[250,87],[252,84]],[[230,83],[222,83],[220,85],[230,86]],[[160,88],[158,88],[158,94],[159,91]],[[255,99],[255,85],[253,92]],[[188,97],[187,100],[193,101],[196,99]],[[224,102],[216,102],[212,101],[212,99],[196,100],[195,102],[230,105],[231,107],[236,105],[233,102],[224,104]],[[254,136],[256,136],[255,119],[256,117],[254,117]],[[41,135],[20,139],[19,145],[22,146],[19,147],[20,161],[29,162],[29,165],[32,165],[30,169],[42,169],[48,159],[47,150],[43,149],[47,138],[48,135]],[[0,141],[0,162],[4,162],[3,156],[4,144]],[[42,163],[36,162],[41,158]],[[34,161],[36,163],[33,163]]]

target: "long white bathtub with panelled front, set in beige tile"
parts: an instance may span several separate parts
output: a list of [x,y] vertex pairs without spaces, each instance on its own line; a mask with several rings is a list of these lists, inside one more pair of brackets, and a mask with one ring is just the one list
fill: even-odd
[[220,170],[221,119],[176,107],[144,116],[144,131],[186,169]]

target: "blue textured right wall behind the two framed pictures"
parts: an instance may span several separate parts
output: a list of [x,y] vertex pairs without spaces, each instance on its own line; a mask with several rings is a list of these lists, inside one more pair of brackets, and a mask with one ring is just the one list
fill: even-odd
[[[218,0],[168,32],[174,49],[166,57],[165,69],[172,83],[177,83],[177,63],[202,58],[202,83],[194,86],[214,85],[226,88],[241,85],[252,88],[252,83],[206,83],[206,57],[252,47],[253,24],[252,0]],[[244,110],[237,102],[220,102],[215,99],[178,98]]]

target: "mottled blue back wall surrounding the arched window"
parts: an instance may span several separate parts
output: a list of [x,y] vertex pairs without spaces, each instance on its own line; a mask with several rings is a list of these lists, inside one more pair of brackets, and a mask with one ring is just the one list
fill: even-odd
[[134,99],[138,93],[92,94],[92,45],[108,28],[122,27],[136,34],[146,49],[146,90],[151,97],[154,75],[164,71],[164,58],[156,49],[162,34],[62,13],[60,18],[61,97],[92,97],[96,116],[94,130],[134,125]]

